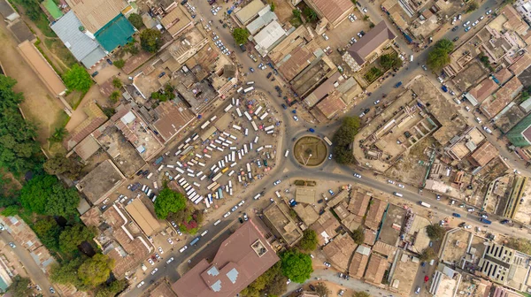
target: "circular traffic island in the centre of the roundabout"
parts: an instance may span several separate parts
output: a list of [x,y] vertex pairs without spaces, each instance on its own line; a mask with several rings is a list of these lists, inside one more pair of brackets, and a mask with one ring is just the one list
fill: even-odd
[[327,159],[327,144],[319,137],[304,136],[295,142],[293,156],[296,161],[308,167],[315,167],[323,164]]

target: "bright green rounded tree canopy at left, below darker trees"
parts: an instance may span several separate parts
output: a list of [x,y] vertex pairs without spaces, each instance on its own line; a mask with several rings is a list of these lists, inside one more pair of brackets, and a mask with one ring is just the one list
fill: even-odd
[[65,188],[56,177],[42,174],[22,187],[19,202],[37,214],[68,218],[77,216],[80,196],[73,188]]

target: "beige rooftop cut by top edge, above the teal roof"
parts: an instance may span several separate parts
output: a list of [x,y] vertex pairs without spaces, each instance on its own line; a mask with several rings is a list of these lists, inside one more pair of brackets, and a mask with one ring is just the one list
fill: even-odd
[[125,0],[65,1],[81,20],[83,26],[92,34],[96,34],[99,29],[104,27],[127,7]]

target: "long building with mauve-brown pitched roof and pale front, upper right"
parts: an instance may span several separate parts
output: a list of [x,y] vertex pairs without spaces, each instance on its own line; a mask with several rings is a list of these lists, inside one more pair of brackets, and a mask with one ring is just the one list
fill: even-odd
[[367,34],[352,44],[342,56],[343,61],[352,71],[358,72],[367,63],[372,63],[380,57],[381,50],[389,47],[395,41],[396,35],[382,20]]

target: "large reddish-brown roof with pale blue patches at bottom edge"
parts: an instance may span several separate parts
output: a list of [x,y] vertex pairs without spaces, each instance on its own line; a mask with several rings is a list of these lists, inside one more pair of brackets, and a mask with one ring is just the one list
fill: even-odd
[[277,261],[273,247],[249,220],[221,243],[212,262],[201,260],[172,289],[179,297],[233,297]]

